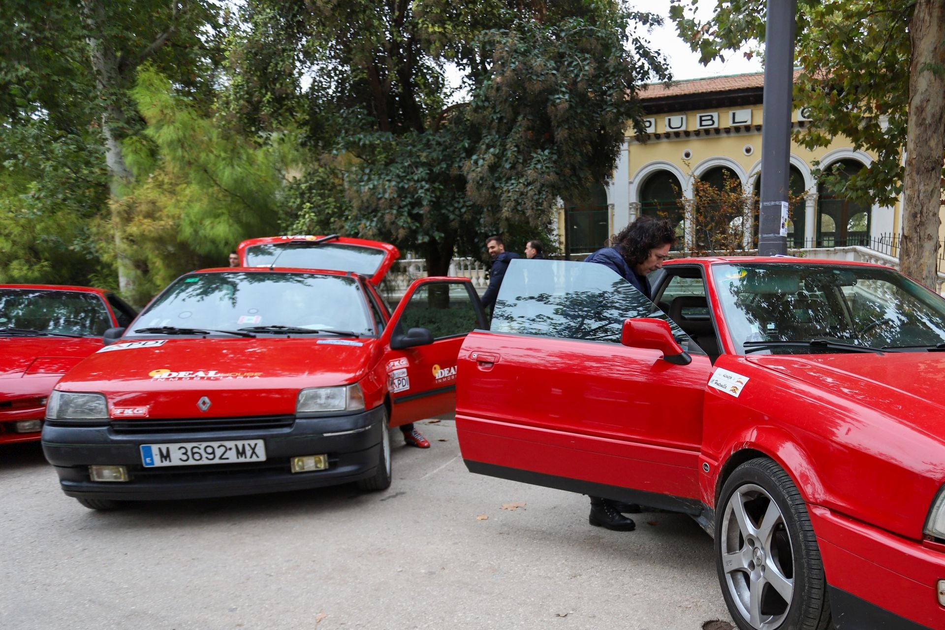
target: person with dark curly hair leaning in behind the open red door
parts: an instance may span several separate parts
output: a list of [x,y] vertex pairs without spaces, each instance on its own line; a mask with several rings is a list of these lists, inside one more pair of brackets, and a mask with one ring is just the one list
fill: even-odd
[[[653,299],[646,276],[662,267],[662,262],[669,258],[670,247],[676,243],[676,230],[673,230],[670,222],[641,216],[610,242],[610,247],[598,249],[585,262],[609,266],[647,299]],[[591,516],[588,521],[594,526],[616,532],[632,532],[636,523],[625,517],[624,513],[637,514],[640,511],[640,505],[636,503],[591,497]]]

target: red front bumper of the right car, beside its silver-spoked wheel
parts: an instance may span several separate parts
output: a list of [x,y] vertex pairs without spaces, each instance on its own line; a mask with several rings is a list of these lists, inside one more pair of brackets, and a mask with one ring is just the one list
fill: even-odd
[[837,630],[940,630],[945,553],[810,505]]

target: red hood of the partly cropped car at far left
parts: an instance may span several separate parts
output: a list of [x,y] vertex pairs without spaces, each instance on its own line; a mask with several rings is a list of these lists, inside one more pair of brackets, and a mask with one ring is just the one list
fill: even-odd
[[0,337],[0,379],[65,374],[100,348],[101,337]]

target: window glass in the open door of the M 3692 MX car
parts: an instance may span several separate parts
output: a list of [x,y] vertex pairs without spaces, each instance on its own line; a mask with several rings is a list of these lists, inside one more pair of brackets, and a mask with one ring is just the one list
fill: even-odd
[[402,332],[427,328],[434,339],[442,339],[472,332],[478,321],[470,282],[429,282],[410,297],[398,326]]

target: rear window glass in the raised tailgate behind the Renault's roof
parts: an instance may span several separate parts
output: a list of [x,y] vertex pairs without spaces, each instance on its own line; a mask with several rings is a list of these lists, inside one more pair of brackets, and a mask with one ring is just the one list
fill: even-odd
[[384,262],[384,256],[385,251],[375,247],[290,241],[247,247],[246,266],[267,267],[275,262],[274,266],[353,271],[370,278]]

